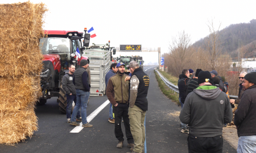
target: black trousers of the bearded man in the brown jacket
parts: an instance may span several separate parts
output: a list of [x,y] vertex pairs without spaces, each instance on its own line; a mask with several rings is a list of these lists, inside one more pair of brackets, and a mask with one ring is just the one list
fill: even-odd
[[118,103],[118,106],[113,107],[115,113],[115,136],[119,141],[123,141],[123,132],[121,128],[121,122],[123,117],[123,124],[125,125],[125,135],[128,143],[133,143],[133,135],[131,135],[130,121],[128,115],[129,104]]

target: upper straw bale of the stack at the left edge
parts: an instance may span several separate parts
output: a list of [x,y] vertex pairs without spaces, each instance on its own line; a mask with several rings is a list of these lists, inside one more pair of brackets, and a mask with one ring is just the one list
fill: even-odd
[[42,54],[39,38],[44,31],[44,3],[0,5],[0,76],[40,74]]

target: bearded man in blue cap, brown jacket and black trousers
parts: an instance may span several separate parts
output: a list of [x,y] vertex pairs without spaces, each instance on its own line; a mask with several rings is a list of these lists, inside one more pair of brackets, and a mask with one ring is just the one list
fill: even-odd
[[115,136],[118,139],[118,145],[116,147],[123,148],[122,118],[125,125],[127,147],[133,147],[134,141],[131,135],[128,115],[130,81],[125,81],[125,78],[129,77],[129,75],[125,74],[125,63],[120,62],[116,67],[118,68],[118,72],[109,78],[108,85],[106,86],[106,96],[113,105],[113,113],[115,114]]

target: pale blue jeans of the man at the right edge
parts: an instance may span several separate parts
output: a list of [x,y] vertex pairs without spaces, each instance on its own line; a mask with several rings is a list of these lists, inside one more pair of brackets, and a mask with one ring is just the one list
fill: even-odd
[[240,136],[238,139],[237,153],[256,152],[256,136]]

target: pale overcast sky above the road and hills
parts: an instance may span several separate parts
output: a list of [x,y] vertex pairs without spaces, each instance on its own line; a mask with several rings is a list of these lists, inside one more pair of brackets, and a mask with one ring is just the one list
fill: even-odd
[[[0,0],[1,3],[26,2]],[[111,46],[142,45],[168,52],[172,37],[185,31],[191,43],[209,34],[208,20],[215,19],[221,29],[230,24],[248,23],[256,19],[256,1],[54,1],[43,2],[49,11],[45,30],[83,31],[93,27],[97,37],[91,43]]]

